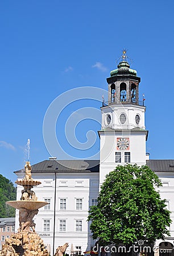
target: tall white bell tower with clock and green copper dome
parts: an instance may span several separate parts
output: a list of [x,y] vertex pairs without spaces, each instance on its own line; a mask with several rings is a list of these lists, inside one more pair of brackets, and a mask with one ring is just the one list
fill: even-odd
[[118,68],[106,79],[108,101],[102,103],[100,136],[100,184],[117,165],[146,164],[144,101],[139,101],[140,77],[130,68],[123,50]]

